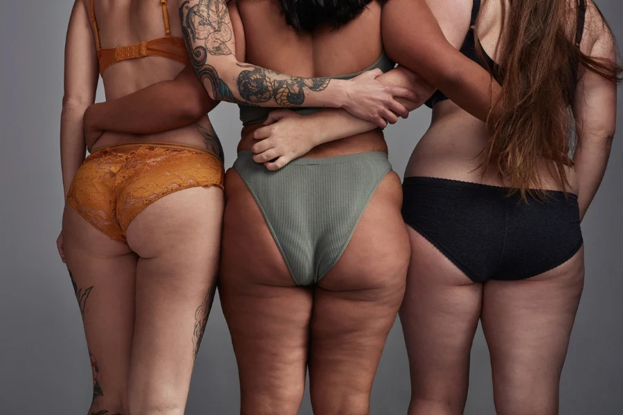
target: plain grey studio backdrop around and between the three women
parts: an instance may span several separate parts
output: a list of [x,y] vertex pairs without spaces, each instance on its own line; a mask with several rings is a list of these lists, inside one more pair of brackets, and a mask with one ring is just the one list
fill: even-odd
[[[597,0],[617,39],[623,4]],[[82,321],[55,240],[63,196],[59,161],[63,48],[71,0],[2,1],[0,16],[0,412],[84,414],[91,367]],[[623,42],[623,40],[621,40]],[[103,95],[98,96],[101,100]],[[397,172],[426,127],[419,109],[387,129]],[[222,104],[210,116],[233,163],[240,121]],[[623,125],[623,100],[617,119]],[[620,134],[619,134],[620,136]],[[623,413],[623,146],[615,139],[610,166],[582,228],[586,286],[563,371],[561,414]],[[405,414],[406,351],[399,324],[388,338],[372,391],[372,414]],[[479,330],[473,344],[466,414],[495,414],[489,356]],[[218,300],[195,366],[186,413],[235,414],[238,384],[231,340]],[[300,414],[311,414],[308,396]]]

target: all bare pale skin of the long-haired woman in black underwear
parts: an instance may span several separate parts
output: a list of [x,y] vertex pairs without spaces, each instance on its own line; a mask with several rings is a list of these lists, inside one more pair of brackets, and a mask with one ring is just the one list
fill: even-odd
[[[459,48],[469,27],[471,1],[435,0],[429,6],[449,42]],[[495,57],[499,34],[499,3],[481,11],[476,28],[485,51]],[[496,31],[497,30],[497,31]],[[615,62],[613,39],[597,10],[588,2],[581,50]],[[604,176],[615,132],[616,85],[586,68],[572,102],[579,146],[569,170],[570,187],[578,195],[584,217]],[[446,92],[446,91],[444,91]],[[446,95],[449,95],[446,93]],[[301,118],[282,112],[270,127],[255,131],[282,156],[305,150],[293,140],[337,140],[365,131],[365,123],[345,113],[317,113]],[[335,126],[323,131],[323,125]],[[296,125],[295,125],[296,124]],[[370,125],[368,125],[368,128]],[[306,133],[305,131],[311,131]],[[460,140],[457,137],[460,136]],[[435,105],[433,122],[419,141],[405,176],[434,176],[473,183],[504,185],[493,172],[482,172],[478,155],[486,144],[485,124],[455,102]],[[254,151],[262,161],[262,142]],[[294,149],[294,150],[292,150]],[[264,150],[265,151],[265,150]],[[543,160],[545,189],[556,190]],[[494,398],[500,414],[557,414],[559,378],[584,281],[584,250],[565,264],[521,282],[475,284],[415,230],[406,293],[401,307],[410,360],[410,415],[462,414],[469,378],[471,342],[482,321],[493,371]]]

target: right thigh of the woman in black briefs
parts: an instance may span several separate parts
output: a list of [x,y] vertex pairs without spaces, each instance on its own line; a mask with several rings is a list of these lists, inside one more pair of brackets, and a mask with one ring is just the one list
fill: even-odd
[[482,328],[499,413],[558,413],[560,374],[583,284],[584,249],[531,279],[485,284]]

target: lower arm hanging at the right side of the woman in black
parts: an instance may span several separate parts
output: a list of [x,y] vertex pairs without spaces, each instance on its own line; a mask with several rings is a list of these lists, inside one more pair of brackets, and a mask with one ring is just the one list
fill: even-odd
[[583,219],[604,178],[610,158],[612,136],[595,136],[591,140],[580,140],[580,143],[573,159],[577,176],[580,219]]

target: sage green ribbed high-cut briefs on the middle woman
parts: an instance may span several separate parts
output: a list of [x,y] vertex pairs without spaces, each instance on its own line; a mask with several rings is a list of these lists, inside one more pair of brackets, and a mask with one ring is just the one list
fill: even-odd
[[387,154],[298,158],[271,172],[240,151],[233,167],[258,203],[296,284],[316,284],[336,264],[365,206],[392,167]]

